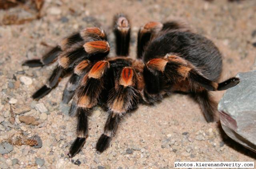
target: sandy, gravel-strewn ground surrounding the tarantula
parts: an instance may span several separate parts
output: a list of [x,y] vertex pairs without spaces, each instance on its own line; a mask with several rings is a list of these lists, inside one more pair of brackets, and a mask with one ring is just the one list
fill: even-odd
[[[0,10],[0,16],[17,12],[17,8]],[[132,22],[131,57],[135,57],[140,26],[178,18],[216,43],[223,54],[223,77],[230,77],[249,71],[254,63],[255,11],[255,0],[46,0],[41,19],[0,26],[0,149],[8,150],[0,156],[0,168],[163,169],[173,168],[174,161],[255,161],[254,153],[227,138],[219,122],[208,124],[198,104],[181,94],[154,106],[140,105],[128,114],[110,148],[102,154],[96,153],[95,145],[106,113],[94,108],[84,148],[70,159],[67,153],[76,138],[76,119],[67,115],[68,106],[60,104],[67,79],[35,101],[31,95],[46,82],[54,66],[21,66],[26,59],[40,58],[50,49],[48,45],[54,46],[62,37],[88,26],[101,25],[108,32],[113,55],[112,18],[124,12]],[[24,13],[20,11],[21,16]],[[223,93],[212,94],[220,100]],[[19,120],[24,115],[35,119],[25,124]],[[18,136],[39,136],[42,147],[13,145],[10,139]]]

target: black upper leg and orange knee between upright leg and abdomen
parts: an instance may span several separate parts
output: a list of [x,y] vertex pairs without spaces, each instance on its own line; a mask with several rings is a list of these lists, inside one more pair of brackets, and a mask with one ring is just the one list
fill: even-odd
[[154,33],[160,31],[163,24],[160,22],[148,22],[144,27],[140,28],[137,39],[137,58],[142,58],[144,49]]

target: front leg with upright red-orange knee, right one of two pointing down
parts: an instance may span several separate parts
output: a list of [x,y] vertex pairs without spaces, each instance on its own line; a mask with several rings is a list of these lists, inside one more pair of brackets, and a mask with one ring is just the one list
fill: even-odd
[[104,133],[100,136],[96,149],[103,152],[108,148],[115,136],[118,124],[127,111],[137,107],[140,93],[136,89],[137,75],[133,68],[124,67],[116,79],[116,85],[109,94],[108,119],[104,126]]

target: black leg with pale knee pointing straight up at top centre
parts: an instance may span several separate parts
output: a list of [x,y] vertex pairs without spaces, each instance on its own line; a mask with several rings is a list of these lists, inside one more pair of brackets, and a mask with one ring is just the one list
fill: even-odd
[[118,14],[114,17],[114,34],[116,38],[116,55],[128,56],[131,28],[124,14]]

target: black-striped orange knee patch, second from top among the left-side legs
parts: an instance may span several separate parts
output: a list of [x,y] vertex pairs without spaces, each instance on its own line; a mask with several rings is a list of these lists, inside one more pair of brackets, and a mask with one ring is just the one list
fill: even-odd
[[87,53],[107,53],[110,50],[107,41],[90,41],[84,44]]

